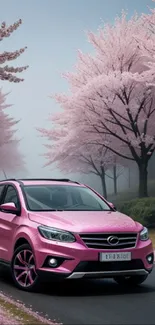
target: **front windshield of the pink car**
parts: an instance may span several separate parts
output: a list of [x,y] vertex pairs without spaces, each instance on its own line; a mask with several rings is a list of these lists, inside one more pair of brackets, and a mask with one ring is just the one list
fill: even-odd
[[31,211],[110,211],[111,208],[87,187],[67,185],[25,185]]

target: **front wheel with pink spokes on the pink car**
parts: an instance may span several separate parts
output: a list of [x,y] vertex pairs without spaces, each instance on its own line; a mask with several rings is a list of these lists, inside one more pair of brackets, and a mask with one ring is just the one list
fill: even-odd
[[[31,263],[31,264],[30,264]],[[24,291],[36,291],[40,280],[36,273],[35,258],[28,244],[18,247],[11,262],[11,275],[16,287]]]

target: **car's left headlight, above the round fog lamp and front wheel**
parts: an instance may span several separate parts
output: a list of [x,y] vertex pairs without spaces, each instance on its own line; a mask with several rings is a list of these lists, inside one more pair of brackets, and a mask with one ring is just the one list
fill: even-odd
[[64,243],[73,243],[76,241],[74,235],[67,231],[46,226],[39,226],[38,230],[41,236],[49,240],[61,241]]

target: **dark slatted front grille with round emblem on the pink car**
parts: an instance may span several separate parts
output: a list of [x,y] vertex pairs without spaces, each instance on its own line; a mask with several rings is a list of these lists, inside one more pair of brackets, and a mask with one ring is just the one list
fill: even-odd
[[[109,240],[110,237],[115,237],[114,240]],[[136,233],[93,233],[80,234],[80,238],[88,248],[118,250],[125,248],[133,248],[136,246]]]

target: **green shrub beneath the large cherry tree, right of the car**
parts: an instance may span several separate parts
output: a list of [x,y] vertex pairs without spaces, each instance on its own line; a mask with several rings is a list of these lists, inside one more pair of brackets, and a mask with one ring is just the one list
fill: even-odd
[[134,199],[118,204],[117,210],[148,228],[155,228],[155,198]]

